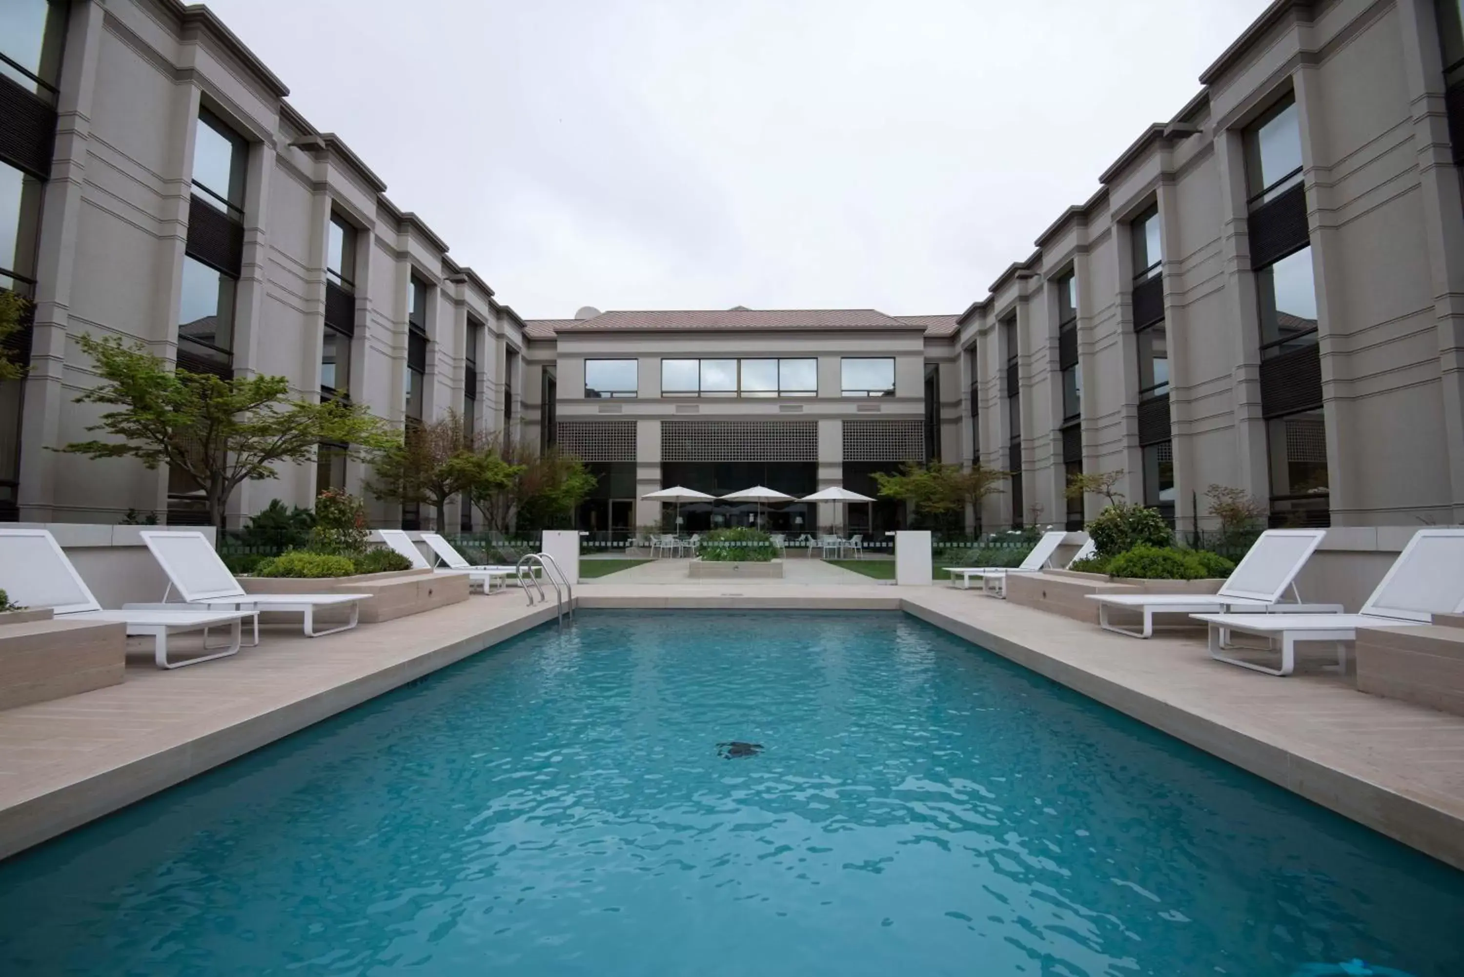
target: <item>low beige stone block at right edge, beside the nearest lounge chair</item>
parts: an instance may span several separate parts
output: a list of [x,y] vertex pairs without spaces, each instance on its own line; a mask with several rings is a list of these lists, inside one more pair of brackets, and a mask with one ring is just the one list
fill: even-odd
[[1359,628],[1357,688],[1464,716],[1464,628]]

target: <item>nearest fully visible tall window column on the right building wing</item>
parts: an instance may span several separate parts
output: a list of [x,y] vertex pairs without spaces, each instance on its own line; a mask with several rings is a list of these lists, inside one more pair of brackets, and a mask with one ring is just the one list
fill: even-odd
[[[1448,44],[1445,40],[1446,48]],[[1326,419],[1296,100],[1287,95],[1261,116],[1246,130],[1244,146],[1271,521],[1326,526],[1331,521]]]

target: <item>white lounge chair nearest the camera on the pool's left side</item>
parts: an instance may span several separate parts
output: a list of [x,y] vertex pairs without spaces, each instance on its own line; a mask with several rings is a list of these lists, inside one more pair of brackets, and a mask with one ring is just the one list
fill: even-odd
[[[44,529],[0,529],[0,590],[23,606],[51,608],[67,621],[113,621],[127,627],[127,637],[151,637],[152,661],[158,668],[182,668],[239,653],[244,611],[129,609],[104,611],[91,587],[76,573],[56,538]],[[208,643],[211,627],[228,627],[230,643]],[[168,636],[203,631],[203,650],[182,662],[168,661]],[[215,649],[224,650],[215,650]]]

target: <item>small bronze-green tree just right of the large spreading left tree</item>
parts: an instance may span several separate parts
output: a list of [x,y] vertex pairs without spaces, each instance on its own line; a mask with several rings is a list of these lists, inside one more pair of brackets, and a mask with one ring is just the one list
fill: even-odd
[[376,456],[369,489],[379,499],[430,505],[441,532],[448,501],[471,485],[473,457],[463,416],[449,410],[429,423],[408,423],[403,439]]

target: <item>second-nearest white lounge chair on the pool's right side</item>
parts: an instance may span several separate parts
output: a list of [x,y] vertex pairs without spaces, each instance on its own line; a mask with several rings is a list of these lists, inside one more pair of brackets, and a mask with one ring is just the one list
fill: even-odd
[[[1341,611],[1337,603],[1301,603],[1296,590],[1296,574],[1306,565],[1325,529],[1268,529],[1246,552],[1240,565],[1225,580],[1218,593],[1089,593],[1098,602],[1098,625],[1129,637],[1151,637],[1157,614],[1328,614]],[[1291,590],[1293,602],[1281,598]],[[1114,608],[1142,614],[1140,630],[1114,624],[1108,615]],[[1179,627],[1189,627],[1189,621]]]

